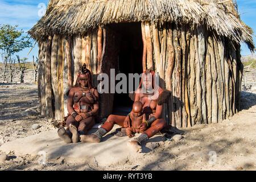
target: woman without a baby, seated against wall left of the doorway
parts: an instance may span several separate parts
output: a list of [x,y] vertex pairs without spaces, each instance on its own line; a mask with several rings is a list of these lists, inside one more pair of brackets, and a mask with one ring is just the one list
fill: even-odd
[[92,73],[85,64],[80,65],[76,84],[68,93],[67,130],[64,127],[58,130],[65,143],[79,142],[80,135],[85,135],[93,127],[99,110],[98,98],[97,89],[92,87]]

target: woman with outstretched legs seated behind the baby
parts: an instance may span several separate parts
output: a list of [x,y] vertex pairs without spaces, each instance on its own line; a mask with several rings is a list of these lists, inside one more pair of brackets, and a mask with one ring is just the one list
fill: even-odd
[[[146,114],[146,122],[143,122],[139,129],[143,131],[139,137],[129,141],[127,145],[134,151],[141,152],[141,143],[148,138],[159,133],[165,126],[166,121],[161,118],[163,106],[159,105],[158,99],[163,89],[155,81],[155,72],[147,70],[142,74],[142,80],[139,88],[135,92],[135,102],[140,101],[143,104],[143,114]],[[92,135],[81,135],[81,142],[100,142],[101,138],[113,129],[117,124],[121,127],[129,127],[129,115],[109,115],[104,125]]]

